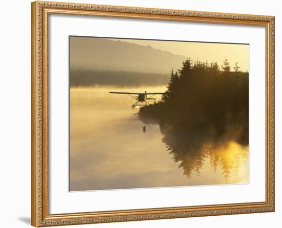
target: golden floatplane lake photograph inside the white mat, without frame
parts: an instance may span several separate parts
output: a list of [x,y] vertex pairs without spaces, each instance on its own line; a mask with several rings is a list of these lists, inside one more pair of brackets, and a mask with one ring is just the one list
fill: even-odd
[[69,37],[69,191],[249,183],[249,44]]

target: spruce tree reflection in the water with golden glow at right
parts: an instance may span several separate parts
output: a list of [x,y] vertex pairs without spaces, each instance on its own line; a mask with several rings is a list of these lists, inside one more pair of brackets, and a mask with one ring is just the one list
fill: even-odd
[[163,143],[166,144],[167,150],[189,179],[194,174],[199,178],[208,159],[211,171],[220,169],[228,183],[231,172],[238,174],[240,167],[248,162],[248,145],[240,145],[234,141],[207,141],[202,145],[194,145],[187,134],[173,133],[173,128],[165,129],[161,126],[160,129],[164,134]]

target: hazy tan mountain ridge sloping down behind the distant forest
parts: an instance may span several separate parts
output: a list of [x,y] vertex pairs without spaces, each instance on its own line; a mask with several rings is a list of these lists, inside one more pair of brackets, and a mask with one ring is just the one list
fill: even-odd
[[95,71],[132,71],[168,74],[187,57],[124,40],[70,37],[70,67]]

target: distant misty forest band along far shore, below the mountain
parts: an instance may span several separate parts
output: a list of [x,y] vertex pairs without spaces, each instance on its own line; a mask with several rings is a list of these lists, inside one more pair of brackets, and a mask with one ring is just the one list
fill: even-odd
[[169,74],[153,74],[126,71],[92,71],[85,69],[70,69],[70,86],[155,86],[166,85]]

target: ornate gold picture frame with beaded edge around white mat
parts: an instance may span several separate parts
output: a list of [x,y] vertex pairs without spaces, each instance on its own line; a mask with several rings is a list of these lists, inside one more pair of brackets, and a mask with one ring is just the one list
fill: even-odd
[[[49,214],[48,16],[72,14],[262,26],[266,31],[266,201]],[[36,1],[31,4],[31,224],[56,226],[274,211],[274,16]]]

